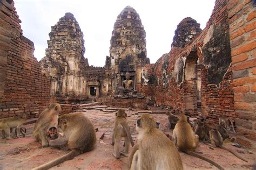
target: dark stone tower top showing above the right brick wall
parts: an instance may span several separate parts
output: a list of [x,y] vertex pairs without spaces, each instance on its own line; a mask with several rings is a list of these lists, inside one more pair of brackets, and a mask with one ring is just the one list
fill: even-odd
[[175,30],[172,47],[185,47],[201,31],[200,24],[196,20],[190,17],[184,18]]

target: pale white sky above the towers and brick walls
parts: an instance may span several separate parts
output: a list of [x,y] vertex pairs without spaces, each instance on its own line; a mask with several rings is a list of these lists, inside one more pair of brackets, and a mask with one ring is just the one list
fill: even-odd
[[37,60],[45,56],[51,26],[66,12],[73,13],[84,34],[84,57],[89,65],[104,66],[109,56],[114,22],[125,8],[132,6],[146,31],[147,57],[155,63],[169,53],[174,31],[185,17],[196,19],[203,30],[210,19],[215,0],[14,0],[23,36],[35,44]]

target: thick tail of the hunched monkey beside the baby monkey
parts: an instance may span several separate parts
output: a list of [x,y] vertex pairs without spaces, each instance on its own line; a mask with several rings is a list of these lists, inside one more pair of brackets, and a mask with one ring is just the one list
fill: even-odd
[[48,162],[48,163],[46,163],[46,164],[41,165],[41,166],[35,167],[35,168],[33,168],[32,170],[37,170],[37,169],[38,169],[38,170],[49,169],[49,168],[51,168],[51,167],[53,167],[53,166],[56,166],[56,165],[58,165],[58,164],[60,164],[60,163],[62,163],[62,162],[64,162],[64,161],[66,161],[66,160],[73,159],[74,157],[76,157],[76,156],[79,155],[79,154],[80,154],[80,151],[79,151],[79,150],[72,150],[72,151],[70,151],[69,153],[63,155],[62,157],[59,157],[59,158],[57,158],[57,159],[55,159],[55,160],[52,160],[52,161],[50,161],[50,162]]

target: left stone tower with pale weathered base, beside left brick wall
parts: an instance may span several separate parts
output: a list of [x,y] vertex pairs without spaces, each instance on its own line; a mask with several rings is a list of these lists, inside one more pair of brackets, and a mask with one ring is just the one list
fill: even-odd
[[51,76],[51,94],[65,96],[85,95],[82,70],[88,66],[84,59],[83,33],[72,13],[65,13],[51,27],[46,56],[39,62],[42,72]]

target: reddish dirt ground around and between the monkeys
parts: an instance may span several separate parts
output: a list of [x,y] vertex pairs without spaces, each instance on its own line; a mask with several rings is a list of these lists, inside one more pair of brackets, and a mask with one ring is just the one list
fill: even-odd
[[[83,113],[92,121],[95,129],[98,128],[97,146],[91,151],[78,155],[72,160],[65,161],[51,169],[128,169],[127,157],[116,159],[112,156],[113,146],[111,143],[111,134],[113,131],[113,121],[116,111],[114,108],[100,108],[95,106],[95,109],[83,109]],[[97,109],[98,108],[98,109]],[[110,109],[110,110],[107,110]],[[137,132],[135,130],[136,120],[138,116],[147,112],[146,110],[126,110],[131,126],[131,133],[136,140]],[[166,134],[172,134],[171,130],[167,130],[167,116],[165,114],[152,114],[156,121],[159,121],[160,130]],[[58,158],[60,155],[69,151],[58,150],[57,148],[38,148],[40,144],[35,141],[32,136],[32,129],[35,124],[25,125],[27,130],[25,138],[5,140],[0,136],[0,169],[31,169],[44,164],[52,159]],[[104,133],[103,140],[99,138]],[[244,162],[228,151],[220,148],[210,148],[203,143],[199,144],[198,152],[202,152],[207,158],[218,162],[225,169],[252,169],[255,160],[255,151],[248,151],[246,148],[238,148],[230,144],[225,144],[225,147],[230,148],[248,160]],[[131,147],[130,147],[131,149]],[[208,162],[191,157],[181,153],[184,169],[217,169]]]

